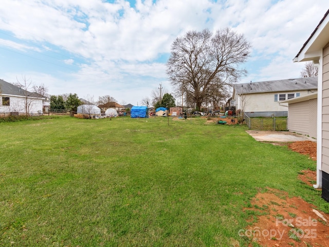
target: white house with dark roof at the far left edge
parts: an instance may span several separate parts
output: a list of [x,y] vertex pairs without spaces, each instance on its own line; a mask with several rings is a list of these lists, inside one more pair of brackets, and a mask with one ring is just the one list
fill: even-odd
[[42,114],[44,97],[0,79],[0,115]]

